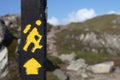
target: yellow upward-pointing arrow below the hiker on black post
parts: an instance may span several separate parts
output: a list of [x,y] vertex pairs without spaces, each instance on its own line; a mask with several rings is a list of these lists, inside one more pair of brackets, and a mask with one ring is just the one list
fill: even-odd
[[39,69],[42,67],[42,65],[35,60],[34,58],[28,60],[24,65],[24,68],[26,68],[26,74],[27,75],[38,75]]

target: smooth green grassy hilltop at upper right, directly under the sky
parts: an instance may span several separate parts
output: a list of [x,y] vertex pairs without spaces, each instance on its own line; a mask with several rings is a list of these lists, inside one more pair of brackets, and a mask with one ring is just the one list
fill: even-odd
[[[97,16],[93,19],[89,19],[82,23],[71,23],[69,24],[69,28],[76,28],[78,30],[89,28],[90,30],[99,29],[101,31],[105,31],[110,34],[119,34],[120,33],[120,23],[113,24],[112,21],[116,20],[120,15],[110,14],[110,15],[102,15]],[[113,26],[117,26],[117,28],[113,29]]]

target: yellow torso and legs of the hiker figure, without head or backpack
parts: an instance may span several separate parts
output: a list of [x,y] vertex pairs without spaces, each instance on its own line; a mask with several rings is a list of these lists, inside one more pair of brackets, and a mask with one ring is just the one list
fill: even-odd
[[[35,37],[38,37],[38,39],[36,40]],[[42,35],[38,33],[37,28],[33,28],[33,30],[27,36],[27,40],[23,47],[23,50],[27,51],[31,43],[34,44],[34,47],[32,48],[33,53],[35,52],[36,49],[41,49],[43,47],[42,45],[40,45],[41,39]]]

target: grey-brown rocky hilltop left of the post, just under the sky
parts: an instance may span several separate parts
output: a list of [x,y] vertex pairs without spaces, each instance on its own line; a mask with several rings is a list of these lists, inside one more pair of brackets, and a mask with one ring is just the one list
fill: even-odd
[[2,16],[1,19],[4,21],[5,26],[8,30],[12,29],[12,35],[16,38],[20,38],[21,27],[20,27],[20,15],[8,14]]

